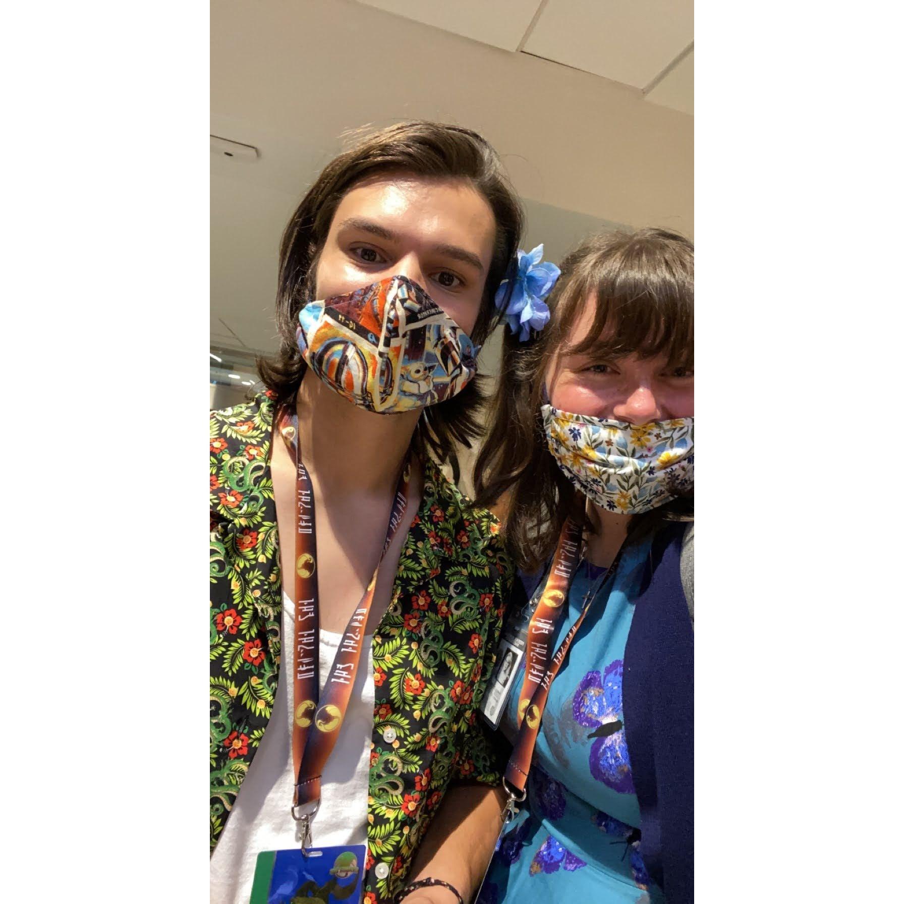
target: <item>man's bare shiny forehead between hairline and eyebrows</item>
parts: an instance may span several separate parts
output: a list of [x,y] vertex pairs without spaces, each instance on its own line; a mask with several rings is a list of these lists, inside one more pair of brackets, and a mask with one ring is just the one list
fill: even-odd
[[373,177],[344,195],[330,232],[350,218],[373,221],[403,241],[456,245],[476,254],[485,268],[493,256],[493,210],[466,179],[405,174]]

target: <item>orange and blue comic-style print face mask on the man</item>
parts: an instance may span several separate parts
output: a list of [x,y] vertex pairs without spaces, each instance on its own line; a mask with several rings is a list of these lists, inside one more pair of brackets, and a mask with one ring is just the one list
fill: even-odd
[[298,322],[307,366],[368,411],[435,405],[462,391],[477,372],[479,347],[407,277],[312,301]]

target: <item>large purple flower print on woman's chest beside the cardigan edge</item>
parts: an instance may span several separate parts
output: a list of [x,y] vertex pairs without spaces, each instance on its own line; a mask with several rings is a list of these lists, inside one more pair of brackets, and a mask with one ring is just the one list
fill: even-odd
[[624,664],[617,659],[600,676],[588,672],[574,693],[572,715],[593,739],[590,748],[590,775],[613,791],[634,794],[631,763],[627,757],[625,726],[622,721],[622,672]]

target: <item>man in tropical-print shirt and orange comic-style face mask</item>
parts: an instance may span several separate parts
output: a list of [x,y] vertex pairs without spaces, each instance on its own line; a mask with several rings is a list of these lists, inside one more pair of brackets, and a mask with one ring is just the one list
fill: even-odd
[[[485,868],[500,764],[476,702],[513,570],[440,466],[476,436],[522,219],[482,137],[412,122],[336,157],[287,226],[266,391],[211,419],[216,904],[246,904],[259,854],[268,900],[381,904],[408,878],[408,904],[443,904]],[[292,849],[324,846],[306,884]]]

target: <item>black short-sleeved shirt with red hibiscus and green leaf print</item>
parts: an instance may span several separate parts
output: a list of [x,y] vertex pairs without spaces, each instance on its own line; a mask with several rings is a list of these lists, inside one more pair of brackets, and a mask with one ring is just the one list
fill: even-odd
[[[268,393],[211,414],[211,850],[274,702],[282,609]],[[497,784],[476,710],[513,579],[499,523],[435,462],[373,636],[365,904],[403,886],[450,781]],[[395,739],[384,740],[393,729]],[[387,732],[391,737],[391,732]],[[388,874],[378,878],[379,873]]]

